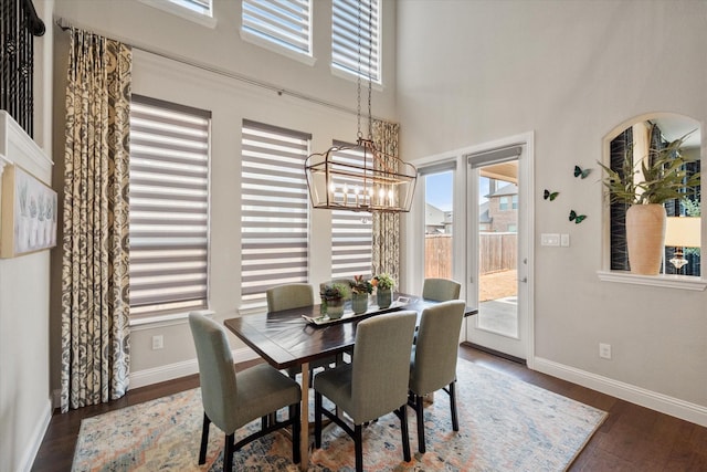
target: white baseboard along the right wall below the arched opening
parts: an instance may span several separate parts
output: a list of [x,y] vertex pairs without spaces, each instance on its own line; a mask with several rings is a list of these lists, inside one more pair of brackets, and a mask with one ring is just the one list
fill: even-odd
[[646,390],[631,384],[614,380],[597,374],[558,364],[552,360],[535,357],[532,368],[544,374],[578,384],[602,394],[640,405],[679,418],[685,421],[707,427],[707,407],[679,398],[669,397],[652,390]]

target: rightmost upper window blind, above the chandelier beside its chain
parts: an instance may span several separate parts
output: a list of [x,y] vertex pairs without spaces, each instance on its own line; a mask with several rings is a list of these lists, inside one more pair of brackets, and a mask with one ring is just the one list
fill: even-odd
[[379,12],[379,0],[334,0],[331,6],[331,65],[334,67],[365,78],[370,75],[372,82],[381,82]]

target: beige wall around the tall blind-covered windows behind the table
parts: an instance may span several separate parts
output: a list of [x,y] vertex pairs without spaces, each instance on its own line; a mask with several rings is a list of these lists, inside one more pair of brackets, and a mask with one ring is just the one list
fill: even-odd
[[[211,308],[222,321],[238,314],[240,298],[240,143],[243,118],[313,133],[313,151],[326,150],[331,139],[356,139],[356,115],[239,82],[229,74],[245,75],[287,91],[356,109],[355,80],[331,74],[329,67],[330,3],[314,4],[314,51],[316,62],[307,65],[244,42],[239,35],[241,2],[214,1],[217,27],[210,29],[151,8],[136,0],[60,0],[56,17],[76,28],[94,31],[133,44],[133,93],[152,96],[212,112],[211,148]],[[394,57],[394,2],[383,6],[383,56]],[[63,123],[59,119],[64,91],[67,33],[56,33],[55,114],[56,148],[63,146]],[[184,65],[156,54],[177,55],[219,70],[223,74]],[[394,118],[394,61],[383,64],[384,85],[373,91],[373,115]],[[363,84],[366,87],[366,83]],[[63,164],[57,161],[57,169]],[[330,279],[329,212],[313,212],[309,280]],[[56,265],[56,264],[55,264]],[[57,280],[60,274],[54,274]],[[56,292],[56,291],[55,291]],[[53,305],[59,303],[53,294]],[[52,325],[52,387],[59,388],[61,338]],[[162,335],[165,348],[151,350],[151,337]],[[234,337],[236,360],[250,352]],[[197,371],[193,343],[187,323],[166,322],[131,329],[131,388]]]

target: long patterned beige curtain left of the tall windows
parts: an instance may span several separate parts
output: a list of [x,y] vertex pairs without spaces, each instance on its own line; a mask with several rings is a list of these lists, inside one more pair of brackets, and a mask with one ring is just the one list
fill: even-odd
[[62,261],[62,412],[128,388],[131,51],[71,30]]

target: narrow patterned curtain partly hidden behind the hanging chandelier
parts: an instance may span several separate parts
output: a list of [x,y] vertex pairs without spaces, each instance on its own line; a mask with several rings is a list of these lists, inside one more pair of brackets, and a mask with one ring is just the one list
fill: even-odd
[[[372,119],[372,140],[377,149],[398,156],[400,125]],[[400,214],[373,213],[373,275],[388,273],[400,283]]]

